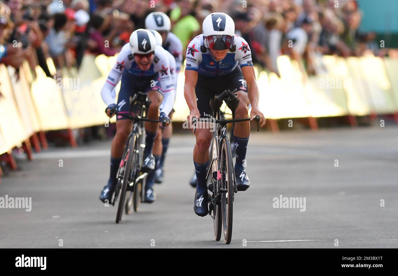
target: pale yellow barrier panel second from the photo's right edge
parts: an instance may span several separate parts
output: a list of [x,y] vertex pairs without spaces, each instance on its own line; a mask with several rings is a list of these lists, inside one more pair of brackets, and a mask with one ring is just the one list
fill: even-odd
[[393,113],[394,99],[392,98],[391,84],[381,58],[366,56],[359,58],[359,68],[363,76],[374,110],[378,114]]

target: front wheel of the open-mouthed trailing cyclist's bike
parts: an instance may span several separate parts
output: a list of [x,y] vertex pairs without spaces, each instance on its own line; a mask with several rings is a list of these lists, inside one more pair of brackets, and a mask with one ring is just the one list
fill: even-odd
[[127,163],[126,167],[124,170],[123,174],[123,181],[122,181],[122,187],[120,190],[120,197],[119,197],[119,205],[117,207],[117,214],[116,214],[116,223],[119,223],[119,221],[122,218],[123,215],[123,208],[125,208],[125,200],[126,200],[126,190],[127,190],[127,185],[129,185],[129,182],[131,181],[131,173],[132,169],[135,169],[137,167],[137,152],[135,152],[135,147],[137,143],[137,137],[136,135],[132,135],[129,141],[129,152],[127,153]]

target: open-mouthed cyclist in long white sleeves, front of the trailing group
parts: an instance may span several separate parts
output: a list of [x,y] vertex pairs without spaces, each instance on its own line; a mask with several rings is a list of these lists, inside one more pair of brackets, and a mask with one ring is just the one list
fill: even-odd
[[[117,104],[115,104],[115,86],[121,80]],[[103,101],[107,104],[105,112],[113,117],[115,111],[129,113],[130,97],[138,91],[148,93],[152,102],[148,108],[146,118],[162,121],[174,104],[174,84],[170,77],[170,63],[165,50],[156,45],[154,35],[145,29],[138,29],[130,36],[130,43],[121,49],[115,66],[109,73],[101,90]],[[159,116],[160,109],[160,116]],[[132,111],[134,113],[134,111]],[[134,115],[134,114],[132,114]],[[170,123],[170,120],[168,120]],[[111,168],[107,185],[100,194],[100,200],[110,202],[117,184],[117,171],[123,154],[125,143],[131,131],[133,122],[118,115],[116,121],[116,135],[111,147]],[[150,172],[155,168],[155,158],[152,146],[158,129],[158,123],[145,123],[145,149],[141,170]],[[145,190],[144,201],[153,202],[156,195],[152,187]]]

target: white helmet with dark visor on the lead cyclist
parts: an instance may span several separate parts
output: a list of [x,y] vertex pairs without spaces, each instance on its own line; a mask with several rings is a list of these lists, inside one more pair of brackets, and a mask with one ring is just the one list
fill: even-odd
[[230,49],[234,46],[235,23],[228,14],[213,12],[203,20],[205,47],[214,50]]

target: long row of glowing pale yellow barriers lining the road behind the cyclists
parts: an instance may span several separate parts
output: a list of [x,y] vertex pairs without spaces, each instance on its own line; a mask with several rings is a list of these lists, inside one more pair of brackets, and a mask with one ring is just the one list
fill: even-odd
[[[78,72],[64,68],[62,78],[48,78],[39,66],[33,72],[24,62],[17,80],[13,68],[0,64],[0,154],[23,146],[29,137],[32,141],[37,133],[44,147],[44,131],[66,129],[71,135],[74,128],[106,126],[109,118],[100,91],[116,57],[87,54]],[[277,60],[280,78],[255,66],[259,108],[272,130],[278,130],[276,120],[293,118],[308,120],[311,128],[317,128],[315,118],[336,116],[348,116],[355,125],[355,116],[393,114],[398,123],[398,58],[323,56],[319,60],[324,72],[317,76],[307,76],[288,56]],[[55,76],[52,60],[47,64]],[[189,114],[183,95],[184,68],[178,76],[174,122]],[[116,97],[119,89],[120,83]]]

